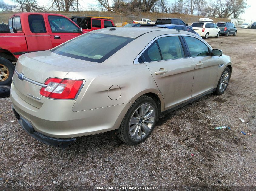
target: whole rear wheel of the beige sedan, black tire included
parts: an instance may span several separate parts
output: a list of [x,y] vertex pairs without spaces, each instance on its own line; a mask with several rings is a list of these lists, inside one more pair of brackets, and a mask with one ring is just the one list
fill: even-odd
[[158,116],[155,101],[141,96],[131,105],[117,130],[118,138],[128,145],[143,142],[153,131]]

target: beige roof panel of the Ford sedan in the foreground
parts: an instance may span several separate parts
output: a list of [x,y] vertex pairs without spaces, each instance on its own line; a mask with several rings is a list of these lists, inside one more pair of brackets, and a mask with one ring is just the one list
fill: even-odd
[[109,27],[109,28],[93,30],[89,33],[102,33],[102,34],[117,35],[121,37],[138,38],[150,32],[159,32],[159,35],[168,33],[168,34],[190,34],[190,35],[193,34],[194,36],[198,36],[198,35],[195,35],[194,33],[186,32],[183,30],[158,28],[158,27]]

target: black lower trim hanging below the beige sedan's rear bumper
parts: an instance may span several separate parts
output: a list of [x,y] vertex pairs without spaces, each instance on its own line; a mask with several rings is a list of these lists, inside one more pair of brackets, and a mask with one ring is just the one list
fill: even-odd
[[33,138],[37,139],[40,142],[43,142],[47,145],[51,145],[54,147],[59,148],[67,148],[69,144],[75,142],[75,138],[53,138],[46,135],[43,135],[42,133],[39,133],[35,131],[31,123],[29,123],[28,120],[24,119],[20,114],[15,111],[15,109],[12,107],[13,113],[15,114],[16,118],[18,119],[19,124],[22,126],[22,128]]

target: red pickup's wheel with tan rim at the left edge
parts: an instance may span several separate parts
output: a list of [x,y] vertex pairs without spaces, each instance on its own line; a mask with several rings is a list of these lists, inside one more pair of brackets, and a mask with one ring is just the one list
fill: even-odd
[[0,85],[11,85],[14,65],[9,60],[0,57]]

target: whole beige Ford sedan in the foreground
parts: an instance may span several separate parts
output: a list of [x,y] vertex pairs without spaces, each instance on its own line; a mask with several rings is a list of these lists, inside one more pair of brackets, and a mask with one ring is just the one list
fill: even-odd
[[135,145],[164,111],[221,95],[232,64],[198,35],[155,27],[105,28],[19,57],[12,107],[32,137],[65,148],[117,130]]

